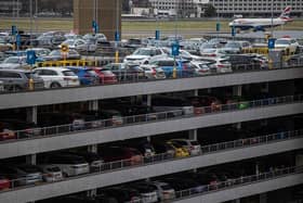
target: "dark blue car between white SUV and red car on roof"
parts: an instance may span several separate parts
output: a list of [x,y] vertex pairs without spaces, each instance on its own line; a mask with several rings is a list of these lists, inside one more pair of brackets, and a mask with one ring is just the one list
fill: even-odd
[[91,86],[100,84],[100,78],[96,73],[90,67],[82,67],[82,66],[70,66],[67,67],[68,69],[73,71],[80,80],[81,85]]

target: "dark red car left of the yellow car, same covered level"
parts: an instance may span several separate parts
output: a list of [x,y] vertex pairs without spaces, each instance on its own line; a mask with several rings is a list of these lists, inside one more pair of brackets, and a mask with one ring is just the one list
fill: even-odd
[[124,161],[124,166],[136,165],[143,162],[143,156],[136,149],[124,147],[103,147],[100,155],[104,162]]

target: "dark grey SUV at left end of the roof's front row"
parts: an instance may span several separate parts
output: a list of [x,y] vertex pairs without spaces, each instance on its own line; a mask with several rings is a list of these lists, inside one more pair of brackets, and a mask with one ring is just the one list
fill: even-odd
[[6,91],[19,91],[29,89],[29,79],[34,79],[34,89],[44,88],[43,80],[35,76],[30,71],[0,69],[0,80]]

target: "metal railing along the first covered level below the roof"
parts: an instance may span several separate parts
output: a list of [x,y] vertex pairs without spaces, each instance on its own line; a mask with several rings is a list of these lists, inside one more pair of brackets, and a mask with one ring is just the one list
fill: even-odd
[[[67,124],[67,125],[17,130],[14,131],[15,135],[14,138],[9,141],[16,141],[19,139],[30,139],[30,138],[35,139],[35,138],[40,138],[45,136],[56,136],[56,135],[63,135],[69,132],[75,134],[75,132],[81,132],[87,130],[102,130],[106,128],[122,127],[127,125],[161,122],[161,120],[169,120],[169,119],[183,118],[183,117],[203,116],[213,113],[241,111],[241,110],[249,110],[254,107],[264,107],[269,105],[295,103],[302,101],[303,101],[303,94],[295,94],[295,96],[267,98],[267,99],[253,100],[253,101],[242,101],[242,102],[236,102],[229,104],[216,104],[216,105],[205,106],[205,107],[194,107],[194,113],[190,114],[184,114],[184,111],[181,109],[181,110],[169,111],[169,112],[126,116],[121,118],[83,122],[80,124],[75,122],[74,124]],[[6,140],[2,140],[2,141],[6,141]]]

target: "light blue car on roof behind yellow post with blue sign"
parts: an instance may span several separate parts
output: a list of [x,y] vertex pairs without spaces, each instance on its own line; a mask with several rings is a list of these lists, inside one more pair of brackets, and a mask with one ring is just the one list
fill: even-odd
[[195,68],[190,65],[189,61],[174,60],[167,58],[152,62],[150,64],[156,65],[163,69],[167,78],[173,77],[173,68],[176,68],[176,77],[194,77],[196,76]]

